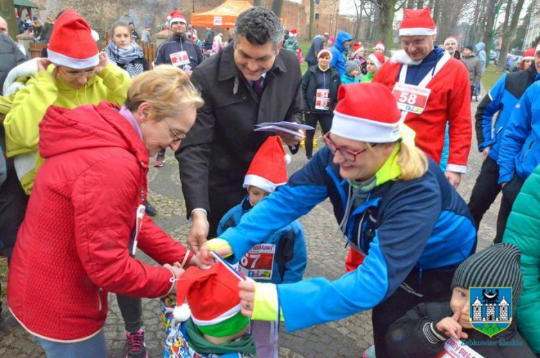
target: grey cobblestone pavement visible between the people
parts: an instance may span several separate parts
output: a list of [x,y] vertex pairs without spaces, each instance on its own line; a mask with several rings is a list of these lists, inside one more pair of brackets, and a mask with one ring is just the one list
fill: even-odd
[[[473,114],[477,102],[473,102]],[[476,137],[469,156],[469,173],[463,177],[459,188],[460,194],[469,198],[474,181],[482,165],[483,157],[476,150]],[[321,142],[318,145],[321,147]],[[178,164],[167,152],[168,158],[163,168],[150,170],[150,200],[159,210],[156,222],[177,240],[185,240],[190,223],[186,220],[186,208],[181,195],[178,177]],[[305,163],[301,151],[293,156],[290,172],[294,172]],[[496,213],[499,202],[486,213],[479,233],[478,248],[483,249],[495,235]],[[330,280],[343,274],[347,250],[337,233],[338,227],[332,214],[330,202],[314,208],[303,217],[307,241],[306,278],[325,276]],[[137,257],[145,262],[152,262],[142,253]],[[113,294],[109,295],[111,310],[105,325],[105,337],[109,348],[109,357],[123,357],[125,334],[123,321]],[[156,300],[143,300],[143,320],[147,347],[153,357],[163,355],[162,341],[164,329],[159,324],[159,303]],[[6,311],[2,314],[0,325],[0,357],[39,357],[44,355],[41,348],[29,334],[22,329],[12,315]],[[314,328],[300,330],[290,334],[282,330],[280,335],[280,357],[361,357],[361,352],[372,345],[372,325],[370,312],[356,314],[347,319],[319,325]]]

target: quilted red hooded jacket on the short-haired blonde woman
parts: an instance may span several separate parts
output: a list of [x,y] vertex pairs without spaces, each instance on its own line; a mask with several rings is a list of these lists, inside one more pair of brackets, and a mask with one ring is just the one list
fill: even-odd
[[[107,316],[107,292],[165,296],[171,271],[129,256],[136,208],[146,191],[148,153],[107,102],[50,107],[39,125],[37,172],[10,263],[8,305],[32,334],[83,341]],[[145,216],[138,248],[164,263],[187,251]]]

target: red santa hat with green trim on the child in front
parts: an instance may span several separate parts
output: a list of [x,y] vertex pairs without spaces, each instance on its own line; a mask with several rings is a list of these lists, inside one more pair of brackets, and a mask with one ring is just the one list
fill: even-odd
[[190,317],[197,328],[213,337],[240,332],[249,319],[240,312],[238,282],[246,277],[222,261],[210,269],[189,267],[177,281],[177,321]]

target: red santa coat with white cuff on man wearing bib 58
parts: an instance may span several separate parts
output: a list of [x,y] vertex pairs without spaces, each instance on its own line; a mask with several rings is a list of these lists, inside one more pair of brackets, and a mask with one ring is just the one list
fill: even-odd
[[[387,61],[373,82],[385,84],[390,91],[399,78],[402,64]],[[444,131],[450,123],[450,151],[447,170],[465,173],[471,150],[471,88],[469,73],[459,60],[451,58],[435,74],[426,88],[431,89],[422,114],[407,114],[405,123],[416,132],[416,145],[427,156],[440,162]]]

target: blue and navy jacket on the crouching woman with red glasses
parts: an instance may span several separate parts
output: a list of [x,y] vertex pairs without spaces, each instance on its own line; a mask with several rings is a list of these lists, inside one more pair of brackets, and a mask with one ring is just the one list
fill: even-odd
[[[244,215],[242,222],[220,235],[233,249],[231,261],[253,244],[309,213],[330,197],[341,222],[350,184],[339,175],[327,147],[318,151],[287,185]],[[438,165],[419,179],[386,181],[375,186],[366,202],[351,211],[344,225],[348,242],[367,253],[354,271],[330,281],[311,278],[278,285],[278,299],[287,331],[369,310],[391,296],[413,269],[452,271],[476,248],[476,229],[467,205]]]

